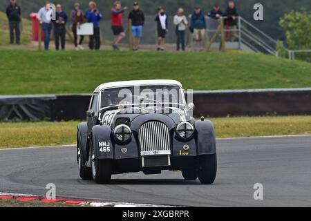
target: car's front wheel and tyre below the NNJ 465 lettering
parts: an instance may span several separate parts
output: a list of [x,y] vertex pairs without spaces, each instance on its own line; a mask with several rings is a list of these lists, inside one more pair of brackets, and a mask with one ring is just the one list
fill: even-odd
[[94,153],[93,142],[91,144],[91,173],[97,184],[109,184],[111,182],[111,160],[99,160]]

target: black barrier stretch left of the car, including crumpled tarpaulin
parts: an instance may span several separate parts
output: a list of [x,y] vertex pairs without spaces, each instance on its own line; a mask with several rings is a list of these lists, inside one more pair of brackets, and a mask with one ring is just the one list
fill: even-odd
[[91,95],[0,96],[0,121],[86,119]]

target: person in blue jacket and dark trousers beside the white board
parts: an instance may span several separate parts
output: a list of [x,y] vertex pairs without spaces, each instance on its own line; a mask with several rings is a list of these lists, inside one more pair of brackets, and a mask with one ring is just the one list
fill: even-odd
[[94,35],[90,36],[90,42],[88,44],[88,47],[91,50],[100,50],[100,20],[102,19],[102,14],[100,14],[99,10],[97,10],[96,3],[94,1],[91,1],[88,3],[88,6],[90,10],[88,10],[88,15],[86,16],[86,19],[88,22],[93,23],[94,26]]

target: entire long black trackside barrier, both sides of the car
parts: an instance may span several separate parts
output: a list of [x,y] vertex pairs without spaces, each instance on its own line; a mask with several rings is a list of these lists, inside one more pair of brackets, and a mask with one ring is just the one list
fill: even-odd
[[[194,91],[192,97],[194,117],[311,114],[311,88]],[[91,95],[0,96],[0,121],[86,119],[90,99]]]

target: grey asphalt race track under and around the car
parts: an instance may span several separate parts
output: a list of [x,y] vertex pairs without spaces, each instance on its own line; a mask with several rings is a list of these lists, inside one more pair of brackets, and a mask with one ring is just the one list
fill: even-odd
[[[82,181],[72,147],[0,150],[0,191],[182,206],[311,206],[311,136],[218,140],[214,185],[185,181],[178,171],[114,175],[109,185]],[[253,186],[263,184],[264,200]]]

